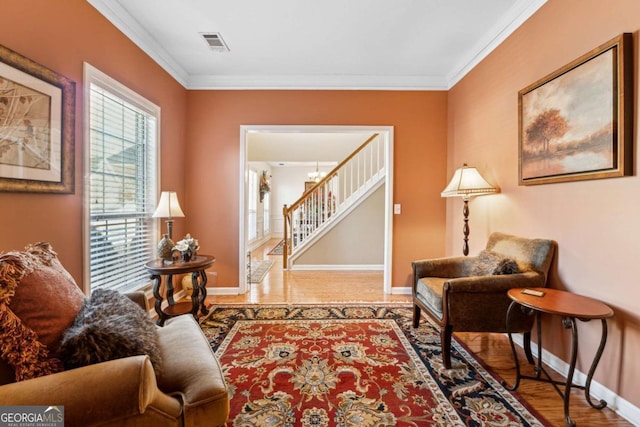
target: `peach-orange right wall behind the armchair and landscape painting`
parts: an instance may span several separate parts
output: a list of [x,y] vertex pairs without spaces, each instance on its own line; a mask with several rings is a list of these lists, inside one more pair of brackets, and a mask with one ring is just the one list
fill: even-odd
[[[638,85],[637,0],[549,0],[450,90],[448,175],[463,162],[477,166],[502,193],[473,199],[472,252],[492,231],[555,239],[559,245],[551,286],[609,304],[609,339],[595,380],[640,405],[640,178],[518,186],[518,91],[622,32],[633,33]],[[640,111],[634,90],[635,135]],[[634,167],[638,170],[637,148]],[[461,202],[447,202],[447,253],[460,251]],[[557,318],[543,325],[545,349],[568,360],[570,334]],[[600,322],[579,322],[578,369],[596,351]],[[613,402],[614,406],[616,402]]]

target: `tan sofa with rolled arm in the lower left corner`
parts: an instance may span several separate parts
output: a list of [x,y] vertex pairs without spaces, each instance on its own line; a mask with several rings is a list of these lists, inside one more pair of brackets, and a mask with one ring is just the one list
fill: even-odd
[[[5,259],[0,256],[0,270]],[[0,288],[6,288],[2,280]],[[149,311],[144,294],[131,298]],[[51,316],[54,322],[53,311]],[[158,328],[158,336],[157,374],[149,356],[139,355],[16,382],[16,369],[0,360],[0,406],[64,406],[66,427],[224,425],[227,386],[198,323],[179,316]]]

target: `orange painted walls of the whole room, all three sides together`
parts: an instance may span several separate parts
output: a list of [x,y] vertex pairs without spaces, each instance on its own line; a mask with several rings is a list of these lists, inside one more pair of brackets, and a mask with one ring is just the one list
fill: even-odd
[[[218,286],[238,282],[240,125],[392,125],[394,201],[402,204],[402,215],[394,216],[393,285],[408,286],[410,262],[443,255],[445,243],[448,254],[460,252],[461,201],[445,205],[439,193],[463,162],[477,166],[502,192],[470,204],[472,253],[496,230],[557,240],[551,285],[599,298],[616,311],[595,379],[639,406],[633,267],[640,253],[640,178],[517,185],[518,90],[623,31],[634,33],[638,46],[639,28],[637,0],[549,0],[448,94],[189,92],[84,0],[4,0],[0,42],[76,82],[76,191],[0,192],[0,251],[47,240],[82,280],[84,61],[162,108],[162,189],[183,194],[187,212],[175,233],[192,232],[218,257]],[[637,75],[638,47],[634,51]],[[637,98],[636,89],[636,109]],[[637,170],[637,148],[634,165]],[[595,322],[579,327],[578,368],[586,372],[600,331]],[[567,360],[569,339],[559,320],[546,321],[545,331],[545,348]]]

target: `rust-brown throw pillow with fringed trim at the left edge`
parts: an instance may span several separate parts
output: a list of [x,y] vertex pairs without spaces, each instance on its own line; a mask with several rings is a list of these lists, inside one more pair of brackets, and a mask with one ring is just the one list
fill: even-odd
[[55,349],[83,301],[49,243],[0,254],[0,357],[16,381],[62,370]]

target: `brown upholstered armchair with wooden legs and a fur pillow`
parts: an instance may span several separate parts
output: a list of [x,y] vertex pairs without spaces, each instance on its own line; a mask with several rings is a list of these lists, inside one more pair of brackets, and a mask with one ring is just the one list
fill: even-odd
[[[440,326],[442,361],[451,368],[451,334],[506,332],[507,290],[547,285],[555,243],[492,233],[478,256],[414,261],[413,326],[425,312]],[[527,359],[531,355],[533,317],[514,313],[511,332],[522,332]]]

